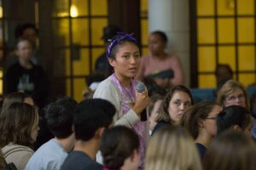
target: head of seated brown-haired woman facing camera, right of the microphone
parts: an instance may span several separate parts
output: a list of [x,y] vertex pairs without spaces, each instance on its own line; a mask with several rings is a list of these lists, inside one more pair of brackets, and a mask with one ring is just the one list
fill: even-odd
[[156,126],[152,135],[162,126],[166,124],[177,125],[183,116],[183,112],[190,105],[193,105],[192,94],[189,88],[183,85],[177,85],[170,89],[160,108],[160,113],[156,118]]

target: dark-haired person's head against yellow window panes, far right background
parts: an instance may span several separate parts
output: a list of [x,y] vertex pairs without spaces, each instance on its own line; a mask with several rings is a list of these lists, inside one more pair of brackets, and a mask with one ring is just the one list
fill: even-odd
[[233,71],[230,65],[217,65],[216,71],[217,88],[221,88],[225,82],[233,78]]

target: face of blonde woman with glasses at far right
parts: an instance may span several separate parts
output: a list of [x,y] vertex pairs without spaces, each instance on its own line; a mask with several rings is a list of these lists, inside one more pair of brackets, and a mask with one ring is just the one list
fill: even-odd
[[224,107],[230,105],[240,105],[241,107],[246,107],[246,99],[241,88],[235,88],[234,91],[227,95],[224,99]]

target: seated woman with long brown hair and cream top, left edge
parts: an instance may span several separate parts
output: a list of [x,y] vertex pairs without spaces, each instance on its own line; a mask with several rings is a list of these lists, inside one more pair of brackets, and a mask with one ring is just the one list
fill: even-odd
[[0,147],[7,163],[23,170],[33,154],[38,135],[38,112],[25,103],[14,103],[0,115]]

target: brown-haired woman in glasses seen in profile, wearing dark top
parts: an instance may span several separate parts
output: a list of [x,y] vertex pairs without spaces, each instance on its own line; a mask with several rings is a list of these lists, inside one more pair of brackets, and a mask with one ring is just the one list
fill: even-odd
[[217,133],[216,118],[221,110],[220,105],[215,102],[202,101],[184,111],[181,125],[186,127],[195,139],[201,160]]

